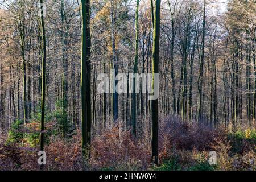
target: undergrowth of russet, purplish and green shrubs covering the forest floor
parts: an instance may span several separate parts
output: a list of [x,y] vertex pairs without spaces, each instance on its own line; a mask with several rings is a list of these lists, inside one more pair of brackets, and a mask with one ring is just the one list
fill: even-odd
[[[51,123],[48,127],[53,127]],[[0,135],[0,170],[39,170],[38,123],[14,125]],[[33,130],[32,130],[33,129]],[[119,125],[93,137],[89,160],[81,157],[81,134],[46,135],[44,170],[255,170],[256,127],[197,126],[175,117],[159,119],[159,165],[152,167],[150,130],[135,138]],[[209,151],[217,165],[210,166]]]

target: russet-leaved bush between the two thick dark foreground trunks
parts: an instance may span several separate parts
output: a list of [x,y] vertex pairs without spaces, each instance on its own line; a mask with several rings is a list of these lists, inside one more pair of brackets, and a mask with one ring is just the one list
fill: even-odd
[[92,140],[90,165],[93,169],[148,168],[150,151],[136,140],[131,131],[122,131],[119,126],[105,131]]

